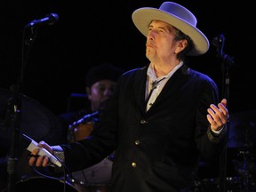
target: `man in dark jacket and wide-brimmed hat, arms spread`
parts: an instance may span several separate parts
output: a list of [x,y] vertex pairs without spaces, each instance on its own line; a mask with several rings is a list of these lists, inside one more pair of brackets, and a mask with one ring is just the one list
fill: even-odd
[[[219,100],[212,79],[185,60],[207,52],[208,39],[193,13],[173,2],[140,8],[132,20],[147,36],[149,64],[119,78],[92,137],[41,146],[56,156],[64,153],[70,170],[96,164],[115,150],[111,192],[193,191],[200,157],[218,158],[227,142],[227,100]],[[31,157],[29,164],[49,161]]]

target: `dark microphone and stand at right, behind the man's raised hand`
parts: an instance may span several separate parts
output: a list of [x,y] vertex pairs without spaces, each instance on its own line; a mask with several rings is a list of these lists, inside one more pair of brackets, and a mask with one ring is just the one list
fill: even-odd
[[[235,61],[233,57],[228,56],[228,54],[223,52],[225,43],[225,37],[220,34],[220,36],[217,36],[213,39],[212,44],[216,46],[217,48],[217,57],[219,57],[222,60],[221,63],[221,71],[222,71],[222,98],[226,98],[227,101],[229,101],[229,84],[230,84],[230,73],[229,69],[231,66],[235,64]],[[228,108],[228,103],[227,103]],[[227,132],[229,135],[229,120],[226,124]],[[228,137],[228,136],[227,136]],[[228,150],[228,138],[227,142],[225,144],[225,147],[222,151],[222,154],[220,156],[220,180],[219,180],[219,192],[227,192],[227,150]]]

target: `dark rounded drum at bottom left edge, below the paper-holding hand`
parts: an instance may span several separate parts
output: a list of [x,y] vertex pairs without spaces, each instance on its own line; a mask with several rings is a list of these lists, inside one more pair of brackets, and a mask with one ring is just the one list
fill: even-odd
[[[15,189],[18,191],[26,192],[91,192],[89,189],[84,188],[76,183],[64,182],[63,180],[53,180],[44,178],[42,176],[20,180],[15,184]],[[3,190],[6,192],[7,188]]]

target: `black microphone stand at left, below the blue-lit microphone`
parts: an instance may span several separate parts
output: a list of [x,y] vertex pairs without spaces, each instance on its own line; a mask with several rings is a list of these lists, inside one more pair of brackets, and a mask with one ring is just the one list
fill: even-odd
[[[7,191],[13,192],[16,191],[16,177],[17,177],[17,163],[19,161],[18,152],[19,152],[19,141],[20,141],[20,113],[21,113],[21,102],[22,102],[22,92],[23,92],[23,80],[24,80],[24,70],[28,63],[28,55],[31,50],[31,45],[36,38],[36,31],[34,28],[30,28],[31,33],[28,36],[28,39],[25,39],[26,28],[23,30],[22,37],[22,55],[21,55],[21,68],[20,75],[17,79],[16,84],[11,86],[12,99],[11,104],[8,107],[8,116],[11,119],[11,127],[12,127],[12,143],[10,154],[7,162],[7,172],[8,172],[8,183],[7,183]],[[28,48],[25,48],[25,45]],[[10,112],[11,109],[11,112]]]

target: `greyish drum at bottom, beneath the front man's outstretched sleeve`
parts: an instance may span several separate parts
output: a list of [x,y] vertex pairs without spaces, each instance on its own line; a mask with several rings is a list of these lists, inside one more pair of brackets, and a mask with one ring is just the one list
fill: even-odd
[[103,159],[99,164],[78,172],[72,172],[71,177],[75,183],[91,188],[90,191],[107,192],[111,180],[112,161],[109,158]]

